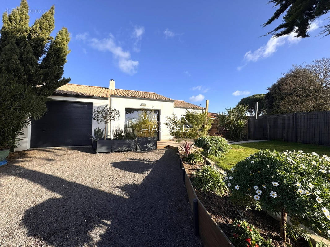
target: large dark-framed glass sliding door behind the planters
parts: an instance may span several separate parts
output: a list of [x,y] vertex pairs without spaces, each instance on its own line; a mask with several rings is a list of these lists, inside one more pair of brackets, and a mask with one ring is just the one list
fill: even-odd
[[125,108],[125,129],[134,127],[137,135],[144,129],[143,131],[151,132],[159,140],[159,126],[159,110]]

